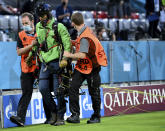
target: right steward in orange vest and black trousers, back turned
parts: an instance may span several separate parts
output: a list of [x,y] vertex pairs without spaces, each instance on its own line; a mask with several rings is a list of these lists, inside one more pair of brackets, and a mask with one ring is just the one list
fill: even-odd
[[[107,66],[107,58],[104,49],[92,33],[92,30],[85,26],[81,13],[74,13],[71,17],[72,25],[78,31],[77,43],[75,43],[76,52],[70,53],[64,51],[64,56],[76,59],[71,86],[69,88],[69,109],[72,115],[67,118],[69,123],[80,123],[79,106],[79,88],[84,80],[87,80],[89,94],[92,99],[94,113],[87,124],[100,123],[100,75],[102,66]],[[98,58],[97,55],[101,53]]]

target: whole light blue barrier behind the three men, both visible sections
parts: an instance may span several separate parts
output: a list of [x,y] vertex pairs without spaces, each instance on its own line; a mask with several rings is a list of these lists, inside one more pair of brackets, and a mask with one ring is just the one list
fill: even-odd
[[[102,41],[108,66],[102,83],[165,80],[164,41]],[[16,42],[0,42],[0,89],[20,88],[20,57]]]

